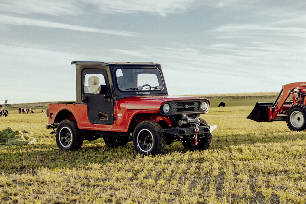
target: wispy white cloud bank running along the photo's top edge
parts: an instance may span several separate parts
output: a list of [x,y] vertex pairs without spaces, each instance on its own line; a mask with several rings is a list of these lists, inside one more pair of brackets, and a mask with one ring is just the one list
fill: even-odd
[[155,13],[166,16],[169,13],[184,12],[195,6],[193,0],[6,0],[0,11],[20,14],[40,13],[52,16],[86,13],[86,8],[98,9],[100,13]]

